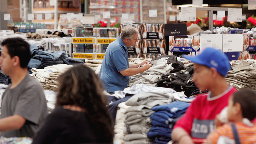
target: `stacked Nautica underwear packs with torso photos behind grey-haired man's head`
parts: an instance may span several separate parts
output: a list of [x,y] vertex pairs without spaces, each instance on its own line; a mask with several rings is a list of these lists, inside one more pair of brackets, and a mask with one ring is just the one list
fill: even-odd
[[126,25],[135,27],[138,31],[138,40],[128,49],[128,58],[155,58],[166,53],[164,39],[164,24],[146,24],[129,22],[119,25],[119,35]]

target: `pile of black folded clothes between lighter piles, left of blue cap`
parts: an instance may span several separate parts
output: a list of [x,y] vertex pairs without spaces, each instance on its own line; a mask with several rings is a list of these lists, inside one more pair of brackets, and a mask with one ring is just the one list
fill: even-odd
[[174,89],[177,92],[184,92],[186,96],[194,96],[200,93],[200,91],[193,83],[192,79],[193,66],[186,68],[185,71],[179,71],[175,73],[168,73],[162,76],[162,79],[157,81],[157,87],[166,87]]

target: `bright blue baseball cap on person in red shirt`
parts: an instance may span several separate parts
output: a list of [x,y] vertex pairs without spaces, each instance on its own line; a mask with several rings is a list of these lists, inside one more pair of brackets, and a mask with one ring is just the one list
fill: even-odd
[[193,63],[208,66],[209,68],[214,67],[222,76],[226,76],[231,66],[227,55],[214,48],[206,48],[200,55],[195,57],[185,55],[183,57]]

